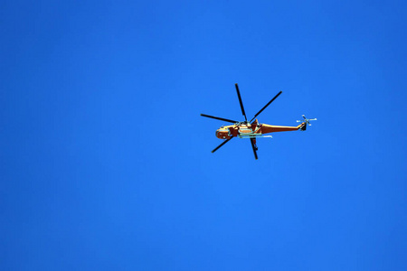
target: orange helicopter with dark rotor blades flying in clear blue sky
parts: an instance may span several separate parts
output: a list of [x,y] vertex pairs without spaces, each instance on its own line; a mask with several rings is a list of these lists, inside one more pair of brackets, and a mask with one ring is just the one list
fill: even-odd
[[212,153],[216,152],[222,145],[225,145],[228,143],[233,137],[239,137],[239,138],[250,138],[251,139],[251,148],[253,149],[253,154],[254,158],[257,160],[258,155],[257,155],[257,150],[258,147],[256,145],[256,138],[257,137],[270,137],[272,138],[271,135],[265,135],[265,134],[270,134],[270,133],[275,133],[275,132],[285,132],[285,131],[305,131],[307,129],[307,126],[311,126],[310,121],[312,120],[317,120],[317,118],[307,118],[305,115],[302,115],[304,118],[303,120],[297,120],[297,122],[300,122],[298,126],[270,126],[268,124],[261,124],[256,117],[260,115],[260,113],[266,109],[266,107],[270,106],[270,103],[272,103],[276,98],[279,97],[279,95],[282,93],[282,91],[279,91],[279,93],[274,97],[271,98],[270,102],[267,103],[264,107],[260,109],[259,112],[257,112],[254,117],[251,118],[250,121],[247,120],[246,113],[244,111],[243,103],[241,101],[241,91],[239,90],[238,84],[234,84],[236,87],[236,92],[239,98],[239,103],[241,104],[241,113],[243,114],[244,120],[243,121],[236,121],[228,118],[223,118],[223,117],[214,117],[211,115],[206,115],[206,114],[201,114],[202,117],[210,117],[218,120],[222,120],[225,122],[232,123],[233,125],[231,126],[221,126],[219,129],[216,130],[216,137],[220,139],[224,139],[221,145],[218,145],[215,147],[212,151]]

